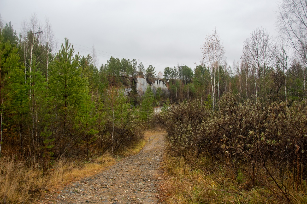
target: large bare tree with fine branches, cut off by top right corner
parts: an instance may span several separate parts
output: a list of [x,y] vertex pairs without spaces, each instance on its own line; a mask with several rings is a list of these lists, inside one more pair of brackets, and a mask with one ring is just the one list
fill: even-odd
[[284,43],[294,49],[303,68],[303,76],[297,76],[303,82],[307,94],[307,0],[283,0],[279,4],[277,27]]

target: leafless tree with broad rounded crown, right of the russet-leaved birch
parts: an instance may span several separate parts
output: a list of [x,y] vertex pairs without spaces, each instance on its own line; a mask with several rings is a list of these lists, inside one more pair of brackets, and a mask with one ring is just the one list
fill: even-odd
[[263,28],[256,28],[243,44],[243,53],[254,74],[256,100],[258,100],[257,89],[266,98],[266,77],[274,64],[276,49],[273,37]]

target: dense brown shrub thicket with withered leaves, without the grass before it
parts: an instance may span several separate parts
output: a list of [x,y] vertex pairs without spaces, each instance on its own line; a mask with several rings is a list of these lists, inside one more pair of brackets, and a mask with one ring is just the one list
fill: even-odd
[[241,190],[265,188],[267,199],[293,201],[306,193],[306,115],[306,100],[289,106],[226,94],[219,111],[190,101],[169,107],[156,121],[167,131],[166,152],[185,166],[218,175],[224,188],[231,179]]

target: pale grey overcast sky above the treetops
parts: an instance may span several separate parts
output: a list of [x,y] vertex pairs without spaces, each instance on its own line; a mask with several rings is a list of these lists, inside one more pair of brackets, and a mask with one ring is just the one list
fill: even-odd
[[0,0],[0,14],[20,32],[22,21],[37,13],[44,23],[49,18],[55,38],[65,37],[80,55],[91,53],[94,45],[99,64],[112,55],[137,59],[145,68],[153,65],[187,65],[194,69],[202,57],[201,45],[214,26],[230,65],[240,60],[243,42],[257,27],[273,37],[276,0]]

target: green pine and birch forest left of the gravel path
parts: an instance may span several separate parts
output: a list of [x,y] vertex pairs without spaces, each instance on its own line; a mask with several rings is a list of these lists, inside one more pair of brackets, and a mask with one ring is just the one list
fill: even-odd
[[124,88],[153,77],[153,66],[111,57],[98,69],[95,53],[80,56],[68,39],[54,53],[48,29],[45,38],[35,29],[17,36],[10,23],[0,31],[0,158],[46,172],[60,157],[121,153],[140,142],[162,93],[147,89],[141,99]]

